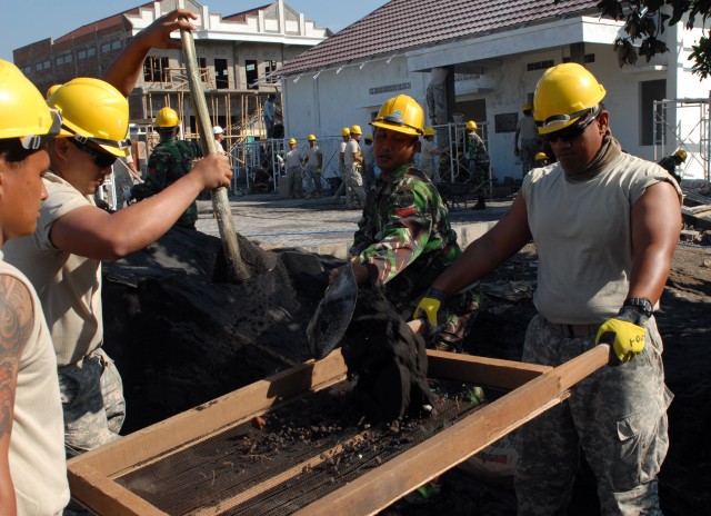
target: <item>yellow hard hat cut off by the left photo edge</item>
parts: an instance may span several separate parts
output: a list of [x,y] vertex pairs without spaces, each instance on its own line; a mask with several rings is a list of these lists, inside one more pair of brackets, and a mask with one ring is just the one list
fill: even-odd
[[61,117],[20,69],[0,59],[0,139],[20,138],[27,150],[59,133]]

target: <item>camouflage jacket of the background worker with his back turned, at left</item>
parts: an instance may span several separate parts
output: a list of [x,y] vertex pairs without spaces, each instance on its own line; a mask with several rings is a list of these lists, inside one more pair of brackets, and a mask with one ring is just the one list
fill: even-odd
[[[131,188],[131,195],[137,200],[154,196],[192,170],[193,160],[201,156],[202,150],[198,141],[184,141],[178,138],[161,141],[148,158],[146,180],[141,185],[134,185]],[[198,205],[193,200],[176,225],[194,228],[196,220],[198,220]]]

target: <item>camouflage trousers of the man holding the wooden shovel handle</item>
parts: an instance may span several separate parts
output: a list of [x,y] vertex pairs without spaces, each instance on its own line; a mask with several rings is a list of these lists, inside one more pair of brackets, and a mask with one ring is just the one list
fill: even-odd
[[123,385],[113,360],[101,348],[78,364],[59,368],[59,391],[68,458],[119,438],[126,418]]

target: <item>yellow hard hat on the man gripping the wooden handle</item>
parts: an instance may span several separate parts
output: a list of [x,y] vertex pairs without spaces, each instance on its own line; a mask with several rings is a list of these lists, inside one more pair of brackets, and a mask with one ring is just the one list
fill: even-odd
[[58,88],[47,103],[62,115],[59,137],[90,141],[117,157],[130,155],[129,102],[113,86],[79,77]]

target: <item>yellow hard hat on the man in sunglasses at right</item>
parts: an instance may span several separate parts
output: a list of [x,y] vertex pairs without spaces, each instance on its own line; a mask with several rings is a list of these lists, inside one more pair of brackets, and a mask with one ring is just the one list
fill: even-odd
[[533,118],[540,135],[560,131],[598,107],[607,91],[585,68],[567,62],[549,68],[535,85]]

